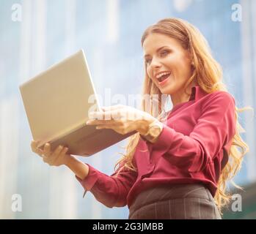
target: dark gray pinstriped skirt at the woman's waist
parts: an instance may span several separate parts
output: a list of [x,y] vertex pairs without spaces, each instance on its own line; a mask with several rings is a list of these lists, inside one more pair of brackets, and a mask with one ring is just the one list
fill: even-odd
[[157,186],[142,191],[128,219],[222,219],[211,192],[202,184]]

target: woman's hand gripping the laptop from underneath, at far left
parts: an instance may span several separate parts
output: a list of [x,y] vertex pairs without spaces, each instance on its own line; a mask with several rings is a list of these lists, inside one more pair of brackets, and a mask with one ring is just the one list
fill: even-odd
[[54,151],[51,151],[51,144],[45,143],[43,150],[38,148],[39,141],[32,140],[31,148],[35,154],[43,157],[43,162],[50,166],[65,165],[67,159],[70,158],[70,154],[66,154],[68,151],[67,147],[58,146]]

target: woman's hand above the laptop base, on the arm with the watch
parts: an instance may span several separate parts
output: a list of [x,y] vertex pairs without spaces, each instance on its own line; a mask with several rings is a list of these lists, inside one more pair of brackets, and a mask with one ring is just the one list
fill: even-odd
[[156,120],[145,111],[125,105],[102,107],[102,109],[103,111],[89,113],[87,124],[97,125],[97,129],[113,129],[122,135],[134,131],[144,135],[149,124]]

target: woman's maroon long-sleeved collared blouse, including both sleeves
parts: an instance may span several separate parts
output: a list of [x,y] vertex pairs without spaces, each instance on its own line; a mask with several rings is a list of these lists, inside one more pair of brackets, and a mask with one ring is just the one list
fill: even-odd
[[88,165],[87,178],[76,177],[85,192],[110,208],[130,207],[139,192],[159,184],[201,183],[214,197],[235,135],[235,99],[225,91],[206,94],[200,86],[191,91],[188,102],[172,108],[156,143],[139,140],[137,172],[107,176]]

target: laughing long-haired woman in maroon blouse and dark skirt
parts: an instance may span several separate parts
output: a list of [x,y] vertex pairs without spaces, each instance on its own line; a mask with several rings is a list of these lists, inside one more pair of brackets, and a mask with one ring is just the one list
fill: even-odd
[[[47,143],[40,150],[33,141],[32,151],[49,165],[67,165],[100,203],[110,208],[128,205],[129,219],[221,219],[221,208],[230,200],[225,184],[248,151],[239,135],[239,109],[222,83],[221,67],[200,31],[177,18],[150,26],[142,48],[143,94],[152,99],[158,94],[157,108],[146,110],[145,102],[142,110],[104,107],[111,119],[87,122],[121,134],[137,132],[114,174],[100,173],[62,146],[51,151]],[[166,118],[164,94],[173,105]]]

